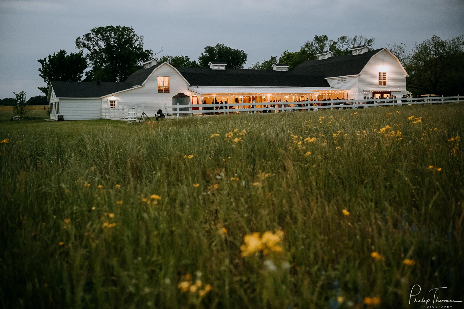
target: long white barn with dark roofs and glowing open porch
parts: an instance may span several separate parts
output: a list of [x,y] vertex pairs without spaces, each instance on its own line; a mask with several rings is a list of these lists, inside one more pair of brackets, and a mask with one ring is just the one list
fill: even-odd
[[178,94],[190,96],[193,104],[406,95],[408,75],[391,51],[368,46],[351,51],[337,57],[327,51],[292,70],[278,63],[272,70],[227,69],[227,63],[214,61],[209,69],[174,68],[151,59],[124,82],[51,82],[50,117],[100,119],[102,110],[116,107],[136,107],[139,116],[142,110],[153,116],[159,109],[169,112],[172,97]]

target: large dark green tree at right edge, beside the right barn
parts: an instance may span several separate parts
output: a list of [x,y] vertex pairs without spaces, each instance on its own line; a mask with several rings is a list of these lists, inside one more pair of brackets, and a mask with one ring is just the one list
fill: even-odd
[[414,95],[457,95],[464,91],[464,37],[438,36],[415,44],[406,63],[406,87]]

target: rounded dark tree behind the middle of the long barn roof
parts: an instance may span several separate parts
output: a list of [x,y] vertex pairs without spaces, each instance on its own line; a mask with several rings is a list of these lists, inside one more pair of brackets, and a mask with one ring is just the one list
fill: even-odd
[[206,46],[205,51],[198,57],[198,62],[202,68],[207,68],[210,61],[224,61],[227,63],[227,68],[243,69],[246,57],[243,50],[218,43],[216,46]]

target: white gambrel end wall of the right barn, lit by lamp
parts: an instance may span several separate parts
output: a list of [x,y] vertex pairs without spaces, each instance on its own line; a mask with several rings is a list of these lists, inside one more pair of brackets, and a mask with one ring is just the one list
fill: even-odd
[[[379,72],[387,72],[387,86],[379,86]],[[361,70],[358,92],[364,90],[391,91],[396,88],[398,89],[393,90],[392,95],[396,95],[397,98],[406,95],[405,73],[403,69],[401,69],[398,61],[388,51],[382,50],[372,57]],[[372,93],[370,93],[369,96],[372,96]]]

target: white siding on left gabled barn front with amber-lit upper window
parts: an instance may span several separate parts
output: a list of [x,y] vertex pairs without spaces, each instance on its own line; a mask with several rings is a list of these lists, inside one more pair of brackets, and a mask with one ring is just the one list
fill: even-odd
[[[158,93],[157,76],[169,76],[169,93]],[[143,111],[148,116],[155,116],[158,109],[165,112],[165,105],[168,106],[169,113],[172,107],[172,97],[179,93],[187,94],[187,82],[175,69],[168,64],[158,67],[148,78],[143,87],[129,89],[124,92],[115,94],[118,107],[137,107],[137,116],[140,117],[143,105]],[[108,95],[102,99],[102,107],[108,107]]]

